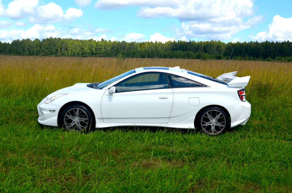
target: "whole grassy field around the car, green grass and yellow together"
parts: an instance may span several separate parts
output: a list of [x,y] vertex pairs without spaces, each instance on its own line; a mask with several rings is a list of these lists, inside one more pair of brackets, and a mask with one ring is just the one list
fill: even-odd
[[41,128],[36,105],[79,82],[142,66],[217,77],[226,60],[0,56],[1,192],[292,192],[292,63],[230,61],[251,76],[244,126],[193,130]]

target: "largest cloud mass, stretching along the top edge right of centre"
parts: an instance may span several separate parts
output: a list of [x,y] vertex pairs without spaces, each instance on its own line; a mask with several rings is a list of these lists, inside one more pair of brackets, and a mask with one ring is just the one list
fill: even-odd
[[175,30],[176,39],[230,39],[263,19],[255,15],[252,0],[98,0],[95,6],[99,9],[141,6],[138,17],[177,18],[181,26]]

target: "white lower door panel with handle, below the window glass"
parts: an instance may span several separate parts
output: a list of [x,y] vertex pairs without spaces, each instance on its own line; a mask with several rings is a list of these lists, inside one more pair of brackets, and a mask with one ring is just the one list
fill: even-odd
[[101,112],[104,123],[167,123],[173,91],[140,90],[113,95],[104,94]]

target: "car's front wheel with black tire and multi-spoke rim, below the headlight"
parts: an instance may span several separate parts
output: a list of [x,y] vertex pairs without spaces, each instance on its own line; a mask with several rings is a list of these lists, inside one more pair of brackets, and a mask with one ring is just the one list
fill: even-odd
[[61,126],[70,131],[89,131],[95,127],[92,113],[82,105],[71,105],[64,109],[61,114]]

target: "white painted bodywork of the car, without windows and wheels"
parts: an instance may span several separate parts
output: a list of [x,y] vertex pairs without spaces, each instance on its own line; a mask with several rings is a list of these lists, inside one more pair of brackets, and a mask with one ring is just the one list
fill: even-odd
[[[96,128],[117,126],[155,126],[194,129],[197,113],[206,107],[221,107],[231,118],[231,127],[245,124],[250,117],[251,105],[241,101],[238,90],[249,82],[250,76],[236,77],[237,72],[225,73],[218,79],[226,80],[221,84],[209,79],[189,74],[185,69],[135,69],[130,74],[105,86],[94,89],[89,83],[77,83],[57,90],[44,98],[37,106],[40,124],[58,126],[60,110],[68,103],[83,103],[90,108],[96,121]],[[140,73],[169,73],[182,76],[205,85],[204,87],[163,88],[109,94],[108,90],[131,76]],[[228,82],[229,81],[229,82]],[[61,96],[51,103],[47,99]],[[159,98],[160,97],[160,98]],[[166,99],[167,98],[167,99]]]

